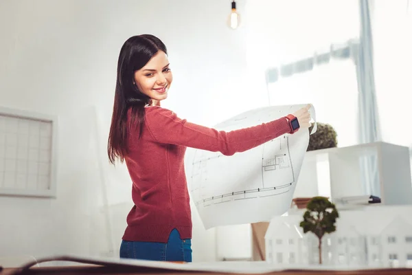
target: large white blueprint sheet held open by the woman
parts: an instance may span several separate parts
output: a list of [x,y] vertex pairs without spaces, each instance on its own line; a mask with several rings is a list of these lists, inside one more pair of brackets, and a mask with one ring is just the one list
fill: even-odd
[[[254,109],[214,129],[231,131],[255,126],[305,106]],[[316,122],[313,107],[310,114]],[[316,123],[312,133],[315,131]],[[205,228],[268,221],[284,214],[290,208],[308,143],[308,129],[299,129],[232,156],[188,148],[187,182]]]

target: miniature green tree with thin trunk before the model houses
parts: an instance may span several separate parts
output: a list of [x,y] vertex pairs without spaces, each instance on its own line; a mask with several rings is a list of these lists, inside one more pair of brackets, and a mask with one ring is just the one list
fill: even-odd
[[336,218],[339,217],[334,203],[326,197],[313,197],[306,206],[304,220],[299,224],[304,233],[312,232],[319,239],[319,264],[322,264],[322,238],[323,235],[336,230]]

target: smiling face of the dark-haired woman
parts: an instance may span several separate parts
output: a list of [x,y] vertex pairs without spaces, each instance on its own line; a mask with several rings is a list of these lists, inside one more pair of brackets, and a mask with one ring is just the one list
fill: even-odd
[[168,97],[172,80],[168,56],[161,51],[157,52],[144,67],[135,72],[137,88],[153,100],[163,100]]

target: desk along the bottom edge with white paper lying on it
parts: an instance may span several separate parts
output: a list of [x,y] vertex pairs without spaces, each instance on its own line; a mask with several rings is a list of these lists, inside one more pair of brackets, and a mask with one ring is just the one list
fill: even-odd
[[[69,261],[76,265],[38,267],[39,263],[52,261]],[[299,269],[300,268],[300,269]],[[214,274],[273,274],[273,275],[411,275],[412,269],[373,269],[364,268],[361,270],[355,268],[341,268],[339,271],[328,270],[327,266],[312,267],[313,270],[306,267],[273,267],[266,262],[216,262],[216,263],[172,263],[172,262],[155,262],[142,261],[133,259],[102,259],[93,257],[79,256],[52,256],[49,258],[36,259],[30,261],[21,268],[6,268],[0,275],[17,275],[17,274],[196,274],[196,275],[214,275]],[[23,272],[22,272],[23,270]]]

